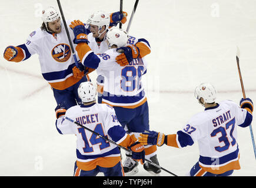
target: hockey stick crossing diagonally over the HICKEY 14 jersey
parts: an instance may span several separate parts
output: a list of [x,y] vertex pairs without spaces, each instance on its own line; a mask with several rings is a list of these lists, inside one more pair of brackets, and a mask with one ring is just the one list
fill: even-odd
[[[108,139],[107,137],[102,136],[102,135],[100,135],[99,133],[95,132],[94,130],[89,129],[88,127],[85,127],[85,126],[81,125],[81,124],[78,123],[78,122],[75,122],[74,120],[70,119],[69,117],[66,116],[65,119],[69,120],[69,122],[75,123],[76,125],[83,127],[84,129],[88,130],[89,132],[92,132],[92,133],[94,133],[95,135],[101,137],[102,139],[104,139],[104,140],[106,140],[106,141],[108,141],[108,142],[111,142],[112,144],[114,144],[114,145],[120,147],[121,149],[124,149],[125,151],[127,151],[127,152],[129,152],[129,153],[132,153],[132,151],[129,150],[129,149],[127,149],[126,147],[124,147],[124,146],[119,146],[119,145],[118,145],[117,143],[115,143],[113,140],[110,140],[110,139]],[[150,160],[145,159],[145,161],[148,162],[148,163],[150,163],[150,164],[152,164],[153,166],[157,167],[158,169],[162,169],[162,170],[164,170],[165,172],[168,172],[168,173],[172,174],[173,176],[177,176],[176,174],[174,174],[174,173],[172,173],[172,172],[169,172],[169,170],[164,169],[163,167],[159,166],[158,164],[155,164],[155,163],[151,162]]]

